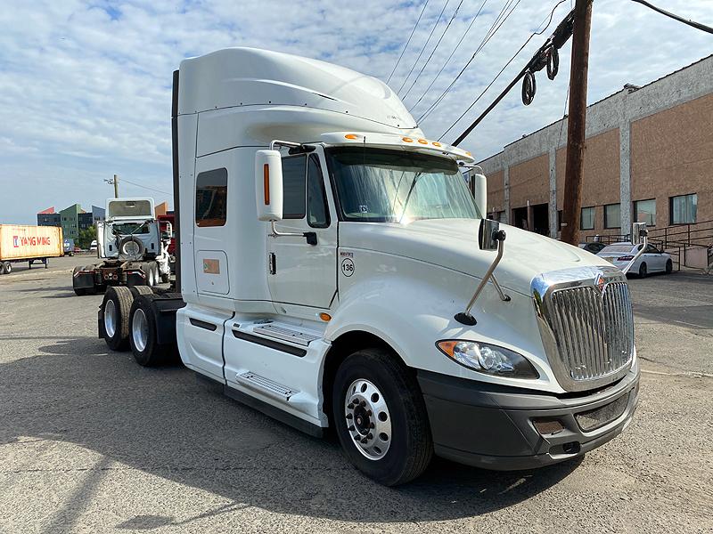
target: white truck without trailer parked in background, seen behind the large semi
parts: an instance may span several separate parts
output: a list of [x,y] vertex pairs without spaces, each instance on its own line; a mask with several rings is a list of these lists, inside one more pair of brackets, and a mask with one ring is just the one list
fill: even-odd
[[161,234],[153,198],[109,198],[106,219],[96,223],[92,242],[102,262],[75,267],[74,292],[94,295],[107,286],[153,287],[168,282],[169,241]]

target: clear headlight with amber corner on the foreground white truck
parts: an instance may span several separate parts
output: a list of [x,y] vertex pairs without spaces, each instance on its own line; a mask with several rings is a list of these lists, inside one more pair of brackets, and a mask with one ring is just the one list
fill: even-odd
[[539,374],[522,355],[497,345],[475,341],[439,341],[436,346],[464,367],[493,376],[538,378]]

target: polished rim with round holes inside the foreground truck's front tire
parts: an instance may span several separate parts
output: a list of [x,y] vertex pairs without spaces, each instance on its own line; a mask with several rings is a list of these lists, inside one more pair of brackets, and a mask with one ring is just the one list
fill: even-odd
[[383,394],[370,381],[352,382],[344,400],[347,430],[356,449],[370,460],[381,460],[391,446],[391,414]]

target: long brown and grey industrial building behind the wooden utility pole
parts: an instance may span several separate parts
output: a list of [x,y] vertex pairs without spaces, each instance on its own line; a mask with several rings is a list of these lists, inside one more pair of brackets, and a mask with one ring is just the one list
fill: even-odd
[[[488,216],[558,237],[566,142],[565,118],[481,161]],[[582,241],[635,221],[713,229],[713,55],[587,108],[581,215]]]

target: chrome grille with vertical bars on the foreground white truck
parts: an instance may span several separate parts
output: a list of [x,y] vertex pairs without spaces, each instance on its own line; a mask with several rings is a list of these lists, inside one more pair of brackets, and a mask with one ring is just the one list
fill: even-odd
[[555,271],[533,280],[532,288],[545,350],[562,387],[581,391],[627,372],[634,315],[620,271]]

